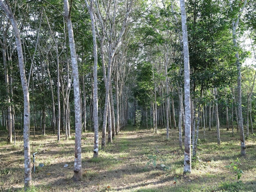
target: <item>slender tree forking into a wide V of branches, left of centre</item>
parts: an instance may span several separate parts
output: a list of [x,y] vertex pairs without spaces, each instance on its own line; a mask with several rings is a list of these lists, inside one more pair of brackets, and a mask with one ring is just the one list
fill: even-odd
[[[102,7],[100,7],[100,4],[98,3],[102,3]],[[130,16],[130,11],[132,9],[132,4],[133,4],[133,0],[128,0],[127,2],[125,1],[124,4],[119,4],[120,6],[125,5],[125,11],[123,10],[124,15],[122,15],[121,18],[119,18],[120,20],[117,20],[117,16],[118,16],[117,10],[118,8],[119,10],[122,10],[123,8],[123,7],[117,6],[118,5],[117,1],[110,2],[109,0],[107,0],[107,1],[96,3],[96,14],[97,14],[97,17],[99,18],[99,25],[101,29],[101,31],[97,30],[97,33],[101,42],[101,61],[102,61],[102,69],[103,69],[103,79],[105,83],[105,104],[104,104],[103,127],[102,127],[102,138],[101,138],[102,149],[106,147],[106,127],[107,127],[107,117],[108,117],[108,106],[110,105],[109,104],[110,91],[112,91],[110,90],[110,87],[111,87],[110,83],[111,83],[111,77],[112,77],[112,71],[113,71],[112,69],[113,58],[117,53],[117,51],[119,50],[122,37],[124,35],[126,27],[128,26],[128,19]],[[121,22],[121,26],[120,26],[120,23],[119,25],[117,25],[116,23],[117,21]],[[107,45],[104,45],[105,38],[108,40]],[[108,53],[107,70],[105,66],[104,54],[106,53],[104,51],[104,47],[107,47],[106,52]]]

